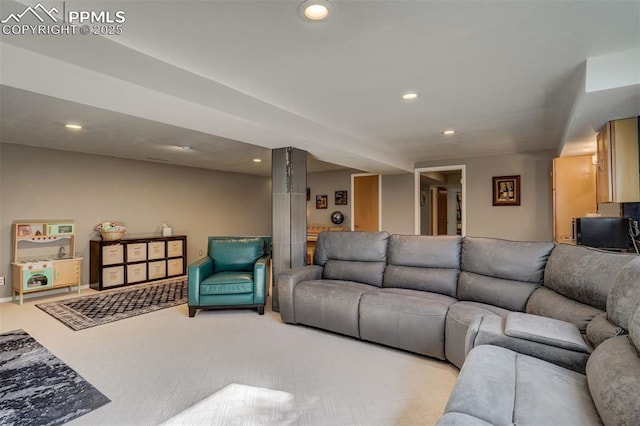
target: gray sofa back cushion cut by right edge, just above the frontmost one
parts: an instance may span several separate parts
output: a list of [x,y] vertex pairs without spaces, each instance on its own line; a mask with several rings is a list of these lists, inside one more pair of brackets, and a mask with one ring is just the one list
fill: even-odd
[[629,330],[633,310],[640,303],[640,257],[629,261],[618,273],[607,296],[609,320]]

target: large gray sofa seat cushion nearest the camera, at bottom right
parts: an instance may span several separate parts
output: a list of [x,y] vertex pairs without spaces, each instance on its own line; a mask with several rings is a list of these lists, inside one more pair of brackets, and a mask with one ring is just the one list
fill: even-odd
[[492,345],[471,350],[445,412],[492,425],[602,424],[583,374]]

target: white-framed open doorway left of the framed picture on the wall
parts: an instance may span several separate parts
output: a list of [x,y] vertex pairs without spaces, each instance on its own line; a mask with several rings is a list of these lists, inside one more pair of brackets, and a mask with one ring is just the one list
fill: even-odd
[[416,235],[466,235],[466,166],[415,170]]

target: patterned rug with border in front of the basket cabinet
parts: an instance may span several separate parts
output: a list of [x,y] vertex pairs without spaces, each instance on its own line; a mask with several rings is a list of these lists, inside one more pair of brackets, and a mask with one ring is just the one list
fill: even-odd
[[78,331],[184,303],[187,303],[187,282],[180,278],[36,306]]

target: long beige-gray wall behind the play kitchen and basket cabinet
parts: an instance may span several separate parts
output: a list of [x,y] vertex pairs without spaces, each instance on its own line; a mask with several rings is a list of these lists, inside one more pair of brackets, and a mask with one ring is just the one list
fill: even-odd
[[[129,236],[187,235],[187,261],[209,235],[271,235],[271,179],[239,173],[0,144],[0,275],[9,277],[15,220],[73,219],[89,282],[93,226],[124,222]],[[0,287],[0,297],[11,286]]]

